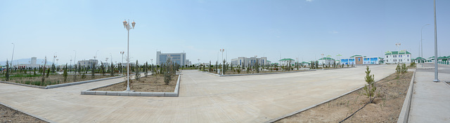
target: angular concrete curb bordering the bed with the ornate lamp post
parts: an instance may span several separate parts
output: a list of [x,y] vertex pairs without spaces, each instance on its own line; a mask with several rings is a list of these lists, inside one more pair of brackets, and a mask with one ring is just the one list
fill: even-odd
[[[106,96],[167,96],[167,97],[178,97],[179,96],[179,85],[180,85],[181,73],[178,75],[178,80],[176,80],[176,86],[174,92],[105,92],[105,91],[92,91],[93,89],[98,89],[101,87],[108,87],[111,85],[115,85],[121,82],[115,82],[110,85],[103,85],[101,87],[96,87],[93,89],[88,89],[86,91],[82,91],[82,95],[106,95]],[[133,79],[134,80],[134,79]]]

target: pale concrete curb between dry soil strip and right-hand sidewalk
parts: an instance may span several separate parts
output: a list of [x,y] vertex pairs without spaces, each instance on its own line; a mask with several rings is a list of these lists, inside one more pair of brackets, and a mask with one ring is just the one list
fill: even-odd
[[414,89],[414,78],[416,78],[416,71],[414,71],[413,78],[411,78],[411,82],[409,82],[408,92],[406,94],[405,101],[403,102],[403,106],[401,107],[399,119],[397,123],[404,122],[407,123],[409,119],[409,110],[411,109],[411,99],[413,98],[413,89]]

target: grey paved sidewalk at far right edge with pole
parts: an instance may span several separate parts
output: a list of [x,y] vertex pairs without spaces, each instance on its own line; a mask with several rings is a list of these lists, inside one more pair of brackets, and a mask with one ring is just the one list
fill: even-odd
[[450,122],[450,66],[439,65],[435,79],[434,64],[418,65],[409,122]]

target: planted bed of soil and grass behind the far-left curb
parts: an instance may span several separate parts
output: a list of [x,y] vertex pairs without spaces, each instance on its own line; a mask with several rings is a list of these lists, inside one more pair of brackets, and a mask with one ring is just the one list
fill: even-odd
[[[29,74],[31,75],[31,74]],[[16,82],[21,84],[27,84],[27,85],[38,85],[38,86],[46,86],[46,85],[58,85],[63,83],[70,83],[70,82],[80,82],[85,80],[96,80],[99,78],[110,78],[109,74],[105,75],[94,75],[94,78],[92,78],[91,74],[85,74],[85,78],[82,78],[82,75],[77,75],[77,78],[75,79],[75,75],[68,75],[68,79],[66,82],[64,82],[64,76],[63,74],[56,74],[52,73],[49,75],[49,78],[45,78],[44,83],[41,84],[42,76],[39,75],[37,77],[19,77],[19,78],[10,78],[8,82]]]

